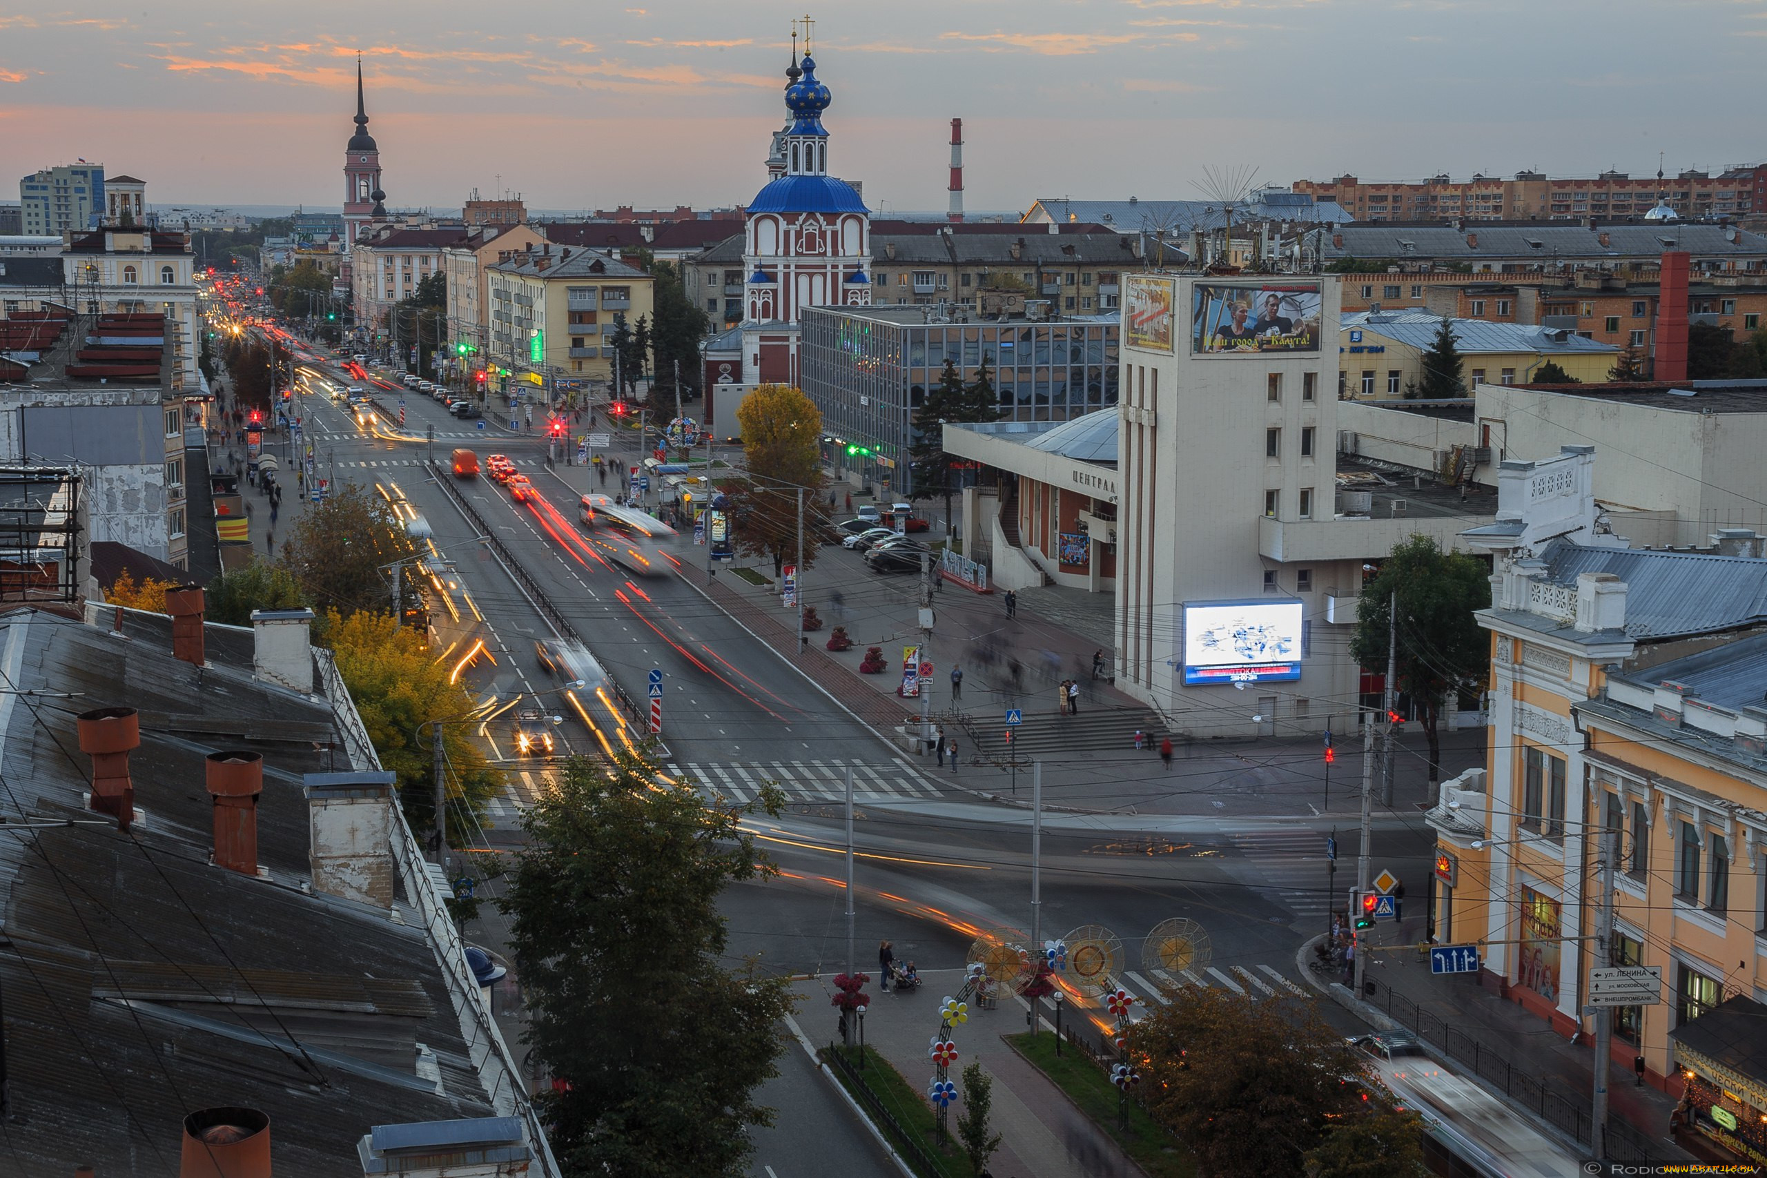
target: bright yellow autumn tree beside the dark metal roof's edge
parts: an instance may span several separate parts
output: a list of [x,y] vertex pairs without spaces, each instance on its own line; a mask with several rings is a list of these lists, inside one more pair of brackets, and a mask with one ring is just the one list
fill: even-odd
[[362,728],[380,765],[399,777],[399,804],[413,830],[435,830],[435,752],[428,721],[444,721],[449,844],[479,842],[484,805],[502,788],[500,774],[472,742],[474,699],[436,662],[424,636],[394,629],[383,613],[327,611],[323,641],[337,657],[337,673],[355,699]]

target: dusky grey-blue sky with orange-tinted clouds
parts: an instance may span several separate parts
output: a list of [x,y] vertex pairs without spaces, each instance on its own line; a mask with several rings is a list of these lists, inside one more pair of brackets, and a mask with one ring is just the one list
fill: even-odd
[[[343,201],[355,55],[387,203],[717,207],[765,182],[793,16],[753,0],[0,7],[0,200],[74,159],[152,203]],[[7,11],[11,9],[11,12]],[[1767,159],[1767,0],[834,0],[829,168],[884,212]]]

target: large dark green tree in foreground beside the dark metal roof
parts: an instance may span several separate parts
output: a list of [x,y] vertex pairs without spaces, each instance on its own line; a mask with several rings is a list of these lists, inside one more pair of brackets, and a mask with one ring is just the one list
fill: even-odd
[[[783,978],[724,966],[717,901],[776,867],[742,827],[622,754],[574,758],[523,816],[507,892],[534,1060],[564,1081],[539,1097],[565,1173],[747,1174],[755,1090],[777,1074]],[[779,812],[767,789],[760,807]],[[562,1090],[560,1090],[562,1088]]]

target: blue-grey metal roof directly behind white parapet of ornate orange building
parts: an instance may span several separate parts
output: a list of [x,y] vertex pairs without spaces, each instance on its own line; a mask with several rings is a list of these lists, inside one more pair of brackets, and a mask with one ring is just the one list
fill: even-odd
[[1578,574],[1612,572],[1626,581],[1626,634],[1634,639],[1712,634],[1767,622],[1767,560],[1649,547],[1583,547],[1553,542],[1546,579],[1576,585]]

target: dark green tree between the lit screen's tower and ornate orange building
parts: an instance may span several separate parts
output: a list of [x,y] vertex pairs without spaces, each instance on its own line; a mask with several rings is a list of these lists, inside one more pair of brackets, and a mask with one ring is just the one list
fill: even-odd
[[1396,604],[1394,689],[1422,714],[1431,782],[1442,777],[1442,708],[1490,669],[1491,645],[1474,616],[1491,604],[1490,576],[1477,556],[1445,553],[1431,537],[1414,535],[1362,583],[1350,657],[1369,671],[1385,669],[1389,606]]

